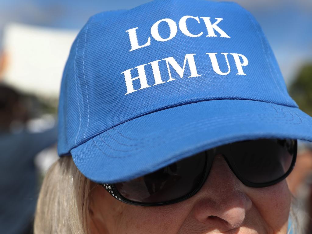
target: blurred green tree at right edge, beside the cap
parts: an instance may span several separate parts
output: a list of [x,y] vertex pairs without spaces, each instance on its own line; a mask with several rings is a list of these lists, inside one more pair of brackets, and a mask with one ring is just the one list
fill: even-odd
[[312,116],[312,63],[301,68],[289,87],[289,93],[299,108]]

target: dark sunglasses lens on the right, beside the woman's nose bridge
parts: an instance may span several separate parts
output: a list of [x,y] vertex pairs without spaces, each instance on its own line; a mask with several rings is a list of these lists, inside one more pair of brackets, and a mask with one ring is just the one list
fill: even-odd
[[251,183],[269,183],[283,177],[295,155],[295,141],[259,139],[231,144],[232,158],[243,178]]

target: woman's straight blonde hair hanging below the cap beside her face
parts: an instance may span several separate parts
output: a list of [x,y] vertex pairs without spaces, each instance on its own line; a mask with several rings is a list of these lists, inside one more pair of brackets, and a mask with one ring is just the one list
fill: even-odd
[[[72,157],[59,158],[48,170],[42,183],[34,233],[91,234],[91,187],[92,182],[80,173]],[[300,230],[293,202],[290,217],[292,234],[300,233],[302,229]]]

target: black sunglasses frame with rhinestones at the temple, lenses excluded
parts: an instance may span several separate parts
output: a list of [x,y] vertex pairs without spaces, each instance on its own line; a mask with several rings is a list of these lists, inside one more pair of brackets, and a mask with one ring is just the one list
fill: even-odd
[[[248,187],[253,187],[253,188],[263,188],[263,187],[267,187],[267,186],[271,186],[271,185],[274,185],[276,183],[279,183],[280,181],[282,181],[283,179],[285,179],[290,173],[291,171],[293,170],[294,166],[295,166],[295,162],[296,162],[296,158],[297,158],[297,148],[298,148],[298,143],[297,143],[297,140],[296,139],[292,139],[293,143],[294,143],[294,155],[293,155],[293,158],[292,158],[292,162],[290,164],[290,168],[287,170],[287,172],[273,180],[273,181],[270,181],[270,182],[267,182],[267,183],[251,183],[249,182],[248,180],[246,180],[240,173],[239,173],[239,170],[237,169],[235,163],[234,163],[234,159],[232,158],[232,155],[231,155],[231,144],[233,143],[230,143],[230,144],[225,144],[225,145],[222,145],[222,146],[218,146],[218,147],[215,147],[215,148],[212,148],[212,149],[208,149],[208,150],[205,150],[205,157],[206,157],[206,160],[205,160],[205,163],[206,163],[206,167],[205,167],[205,172],[204,172],[204,176],[202,177],[200,183],[198,184],[197,188],[195,190],[193,190],[192,192],[188,193],[187,195],[184,195],[183,197],[179,197],[179,198],[176,198],[176,199],[173,199],[173,200],[169,200],[169,201],[166,201],[166,202],[157,202],[157,203],[143,203],[143,202],[134,202],[134,201],[131,201],[125,197],[123,197],[117,190],[115,184],[109,184],[109,183],[104,183],[104,184],[100,184],[102,185],[105,190],[107,192],[109,192],[115,199],[121,201],[121,202],[124,202],[126,204],[129,204],[129,205],[135,205],[135,206],[163,206],[163,205],[170,205],[170,204],[173,204],[173,203],[177,203],[177,202],[182,202],[184,200],[187,200],[188,198],[192,197],[193,195],[195,195],[203,186],[203,184],[205,183],[205,181],[207,180],[207,177],[209,175],[209,172],[210,172],[210,169],[211,169],[211,166],[212,166],[212,163],[213,163],[213,160],[215,158],[216,155],[220,155],[222,154],[223,157],[225,158],[228,166],[230,167],[230,169],[232,170],[232,172],[235,174],[235,176],[246,186]],[[192,156],[191,156],[192,157]]]

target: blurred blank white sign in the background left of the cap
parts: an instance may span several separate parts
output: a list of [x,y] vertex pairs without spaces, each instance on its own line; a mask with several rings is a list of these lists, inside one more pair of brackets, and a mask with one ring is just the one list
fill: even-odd
[[62,73],[78,32],[11,23],[4,29],[2,80],[18,90],[58,98]]

